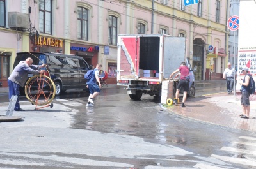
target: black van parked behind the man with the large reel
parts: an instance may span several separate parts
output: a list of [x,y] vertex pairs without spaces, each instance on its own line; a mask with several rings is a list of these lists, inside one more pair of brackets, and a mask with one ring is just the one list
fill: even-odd
[[[88,70],[88,63],[84,61],[83,57],[77,55],[60,54],[60,53],[17,53],[13,69],[20,61],[25,61],[28,57],[33,59],[33,64],[42,65],[46,63],[47,69],[45,71],[51,77],[56,85],[56,96],[60,96],[61,92],[68,89],[86,89],[86,80],[84,74]],[[42,68],[46,70],[46,68]],[[33,74],[28,74],[28,79],[33,77]],[[36,89],[36,87],[35,87]],[[24,89],[20,89],[22,93]]]

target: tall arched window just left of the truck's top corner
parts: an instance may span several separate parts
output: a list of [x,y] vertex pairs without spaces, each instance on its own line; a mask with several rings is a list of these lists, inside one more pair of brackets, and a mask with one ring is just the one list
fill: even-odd
[[117,43],[117,18],[112,15],[108,17],[108,42],[111,45]]

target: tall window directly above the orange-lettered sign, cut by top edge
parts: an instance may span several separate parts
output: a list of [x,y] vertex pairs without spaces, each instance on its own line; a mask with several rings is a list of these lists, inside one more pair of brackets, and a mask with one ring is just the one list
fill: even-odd
[[52,1],[39,0],[40,33],[52,34]]

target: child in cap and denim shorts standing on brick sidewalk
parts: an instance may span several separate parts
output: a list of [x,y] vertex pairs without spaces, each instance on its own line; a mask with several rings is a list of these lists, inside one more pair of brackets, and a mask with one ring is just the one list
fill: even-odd
[[250,109],[251,109],[250,99],[249,99],[249,97],[250,97],[250,76],[248,75],[249,68],[244,66],[242,68],[242,73],[244,74],[244,79],[241,79],[239,84],[242,85],[242,87],[241,87],[241,93],[242,93],[241,105],[242,105],[242,109],[243,109],[243,114],[241,114],[240,117],[244,118],[244,119],[249,119],[249,114],[250,114]]

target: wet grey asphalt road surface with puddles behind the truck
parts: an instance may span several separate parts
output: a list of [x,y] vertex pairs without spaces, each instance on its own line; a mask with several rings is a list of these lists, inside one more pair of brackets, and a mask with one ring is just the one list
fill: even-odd
[[[220,82],[216,84],[201,82],[196,88],[196,96],[216,91],[225,91],[225,86],[223,87]],[[243,157],[245,156],[243,153],[221,151],[221,147],[232,147],[234,146],[232,142],[241,140],[240,136],[255,137],[255,133],[177,117],[159,106],[159,100],[152,96],[143,94],[141,101],[132,101],[123,87],[109,85],[108,88],[102,89],[95,101],[95,107],[85,107],[87,98],[88,93],[84,91],[72,91],[54,99],[52,109],[63,108],[65,112],[64,110],[68,107],[68,110],[75,112],[67,119],[70,126],[66,129],[63,127],[44,128],[44,131],[40,129],[36,136],[46,138],[47,132],[51,133],[53,130],[45,143],[48,143],[49,147],[55,147],[57,141],[54,140],[59,140],[60,147],[55,147],[53,150],[46,149],[43,144],[42,149],[38,148],[39,150],[35,152],[29,146],[27,149],[20,148],[22,149],[20,154],[23,156],[26,152],[29,154],[29,159],[25,159],[21,158],[18,152],[14,154],[15,151],[10,148],[12,146],[4,144],[4,149],[0,151],[0,166],[2,168],[44,168],[42,163],[47,164],[47,168],[200,168],[202,166],[248,168],[250,166],[220,161],[212,158],[212,154]],[[1,99],[3,99],[2,96]],[[24,98],[21,97],[22,99]],[[3,136],[7,135],[5,132],[9,129],[9,132],[13,132],[12,128],[6,128],[4,123],[1,124],[0,129],[2,131],[4,129]],[[83,137],[84,133],[87,137]],[[24,133],[24,135],[28,134]],[[20,139],[20,136],[16,139]],[[68,149],[66,147],[71,147],[71,152],[65,151]],[[90,149],[90,152],[81,151],[82,147],[86,147],[86,150]],[[254,149],[253,146],[240,148],[244,151]],[[72,152],[74,149],[77,151]],[[42,158],[42,156],[52,155],[54,156],[52,159]],[[250,158],[255,159],[255,156]],[[13,163],[6,162],[6,158],[11,158]],[[78,159],[87,160],[87,162],[82,163],[77,161]],[[27,163],[33,161],[36,167],[26,163],[20,165],[19,161]],[[102,161],[107,161],[111,165],[106,163],[104,165]]]

